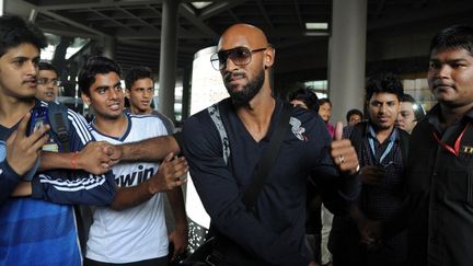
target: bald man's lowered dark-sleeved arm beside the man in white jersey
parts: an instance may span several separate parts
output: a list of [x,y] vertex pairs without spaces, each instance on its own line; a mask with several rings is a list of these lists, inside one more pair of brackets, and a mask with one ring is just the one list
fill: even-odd
[[[201,119],[201,120],[199,120]],[[184,154],[212,224],[241,247],[273,265],[309,265],[310,261],[247,210],[233,173],[222,158],[221,140],[211,118],[189,117],[183,129]]]

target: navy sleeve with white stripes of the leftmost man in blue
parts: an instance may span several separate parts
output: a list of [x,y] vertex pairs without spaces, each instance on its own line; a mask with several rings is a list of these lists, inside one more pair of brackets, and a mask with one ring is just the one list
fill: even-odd
[[[80,151],[92,141],[85,119],[68,111],[70,126],[69,149]],[[56,204],[108,206],[115,198],[113,173],[94,175],[81,170],[55,170],[37,173],[32,181],[32,197]]]

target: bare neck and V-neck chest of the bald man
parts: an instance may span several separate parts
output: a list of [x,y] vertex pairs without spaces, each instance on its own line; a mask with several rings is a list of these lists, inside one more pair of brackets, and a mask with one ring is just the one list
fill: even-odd
[[266,136],[275,106],[276,100],[267,85],[247,105],[236,108],[238,116],[255,141],[258,142]]

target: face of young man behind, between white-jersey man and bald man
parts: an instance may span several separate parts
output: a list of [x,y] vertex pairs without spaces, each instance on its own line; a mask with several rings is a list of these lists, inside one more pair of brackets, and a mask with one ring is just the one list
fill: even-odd
[[135,81],[131,88],[126,89],[126,96],[129,99],[132,114],[150,114],[152,112],[153,85],[150,78],[145,78]]

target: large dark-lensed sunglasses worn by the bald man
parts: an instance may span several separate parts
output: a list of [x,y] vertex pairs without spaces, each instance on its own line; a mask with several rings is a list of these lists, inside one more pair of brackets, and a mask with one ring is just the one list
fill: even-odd
[[251,62],[253,53],[263,51],[267,48],[268,47],[250,50],[246,47],[235,47],[233,49],[220,50],[210,56],[210,62],[216,70],[222,70],[226,68],[227,60],[230,58],[234,65],[242,67]]

